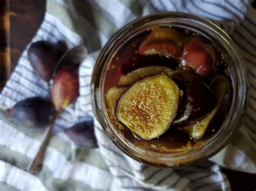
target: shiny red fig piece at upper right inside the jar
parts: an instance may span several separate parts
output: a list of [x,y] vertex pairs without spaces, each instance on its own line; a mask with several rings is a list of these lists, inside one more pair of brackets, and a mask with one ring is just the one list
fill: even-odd
[[199,37],[188,43],[181,56],[181,68],[192,69],[197,74],[208,76],[211,74],[215,62],[215,51],[210,44]]

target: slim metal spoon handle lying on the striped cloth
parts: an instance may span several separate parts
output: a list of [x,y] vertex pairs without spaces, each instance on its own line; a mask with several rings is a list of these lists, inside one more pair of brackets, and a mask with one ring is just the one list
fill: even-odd
[[29,166],[29,171],[31,173],[38,173],[41,171],[41,169],[43,167],[45,151],[50,142],[53,126],[54,126],[57,116],[58,116],[58,111],[55,110],[53,113],[51,122],[50,122],[50,126],[45,131],[43,142],[42,142],[41,146],[39,147],[39,150],[37,151],[35,158],[33,159],[32,163]]

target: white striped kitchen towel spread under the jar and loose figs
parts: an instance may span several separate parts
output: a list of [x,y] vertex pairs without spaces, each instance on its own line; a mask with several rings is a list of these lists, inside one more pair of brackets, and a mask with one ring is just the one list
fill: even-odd
[[[32,70],[26,47],[0,95],[0,188],[3,190],[230,190],[219,165],[256,173],[256,13],[248,0],[48,0],[37,40],[62,41],[69,48],[84,44],[89,54],[79,68],[80,96],[57,118],[55,135],[43,169],[28,166],[43,137],[42,129],[27,129],[3,111],[31,96],[47,96],[46,83]],[[90,79],[95,59],[107,39],[131,20],[159,11],[181,11],[211,19],[230,34],[240,48],[251,83],[249,107],[241,128],[211,161],[179,169],[140,164],[127,157],[104,134],[92,114]],[[99,148],[75,145],[63,130],[93,121]]]

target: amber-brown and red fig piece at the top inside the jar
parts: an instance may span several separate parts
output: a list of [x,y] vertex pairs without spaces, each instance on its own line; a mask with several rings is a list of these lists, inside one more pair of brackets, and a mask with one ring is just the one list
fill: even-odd
[[180,34],[170,28],[154,29],[139,46],[138,52],[143,55],[157,54],[180,59],[183,53],[183,40]]

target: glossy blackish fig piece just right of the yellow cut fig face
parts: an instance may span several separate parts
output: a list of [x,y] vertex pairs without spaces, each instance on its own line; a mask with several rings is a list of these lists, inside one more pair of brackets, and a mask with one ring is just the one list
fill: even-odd
[[197,74],[187,70],[175,70],[170,77],[183,90],[179,109],[173,122],[175,125],[185,126],[196,123],[217,104],[215,94]]

